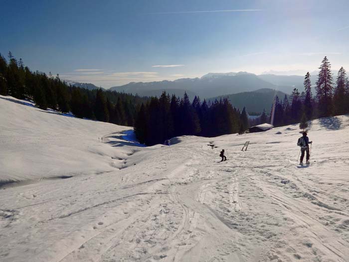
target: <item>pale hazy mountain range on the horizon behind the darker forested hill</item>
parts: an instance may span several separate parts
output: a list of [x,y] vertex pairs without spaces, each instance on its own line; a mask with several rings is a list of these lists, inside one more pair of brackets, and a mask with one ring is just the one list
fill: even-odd
[[[312,75],[312,84],[317,76]],[[258,89],[273,89],[291,93],[294,88],[303,90],[304,76],[298,75],[255,75],[248,72],[208,73],[200,78],[181,78],[174,81],[131,82],[111,90],[139,94],[141,96],[160,95],[163,90],[182,96],[186,91],[189,96],[200,98],[217,97],[226,94],[251,92]]]

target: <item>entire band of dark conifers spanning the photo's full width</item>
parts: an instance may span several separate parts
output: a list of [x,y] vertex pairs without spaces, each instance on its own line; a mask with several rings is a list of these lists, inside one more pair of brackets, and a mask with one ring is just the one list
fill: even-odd
[[264,110],[261,116],[250,120],[245,108],[240,112],[227,98],[201,102],[195,96],[190,102],[186,93],[179,98],[164,91],[159,98],[148,98],[74,87],[62,81],[59,75],[53,77],[30,71],[11,52],[8,53],[8,62],[0,54],[0,94],[33,100],[44,110],[51,108],[62,113],[72,112],[80,118],[134,126],[141,143],[154,145],[181,135],[215,137],[242,133],[250,125],[265,123],[268,118],[271,121],[272,117],[274,126],[299,122],[304,126],[311,119],[349,113],[346,70],[341,67],[334,86],[331,64],[326,56],[319,69],[315,96],[308,72],[304,91],[300,93],[294,89],[290,97],[285,95],[282,100],[276,96],[270,118]]

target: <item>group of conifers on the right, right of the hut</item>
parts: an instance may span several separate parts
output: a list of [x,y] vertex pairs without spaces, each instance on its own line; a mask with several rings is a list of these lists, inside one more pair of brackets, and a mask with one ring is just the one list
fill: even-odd
[[[273,125],[283,126],[307,121],[320,117],[329,117],[349,113],[349,81],[346,70],[341,67],[336,83],[331,73],[331,64],[325,56],[315,83],[316,95],[312,93],[310,73],[305,75],[304,91],[294,89],[290,97],[280,100],[275,97]],[[270,114],[273,117],[273,114]],[[272,119],[270,119],[272,121]]]

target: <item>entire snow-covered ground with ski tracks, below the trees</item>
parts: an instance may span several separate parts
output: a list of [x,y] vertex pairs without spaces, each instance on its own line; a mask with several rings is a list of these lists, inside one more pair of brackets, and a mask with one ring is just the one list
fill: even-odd
[[349,261],[348,115],[313,121],[299,166],[296,125],[143,147],[129,127],[8,99],[1,262]]

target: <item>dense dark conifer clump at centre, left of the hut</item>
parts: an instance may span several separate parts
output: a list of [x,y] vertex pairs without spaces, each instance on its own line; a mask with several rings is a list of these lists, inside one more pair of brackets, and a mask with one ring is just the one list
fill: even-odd
[[166,91],[142,104],[135,122],[135,134],[146,145],[164,143],[175,136],[215,137],[247,128],[245,108],[240,112],[227,98],[201,103],[195,96],[190,102],[186,93],[179,98]]

